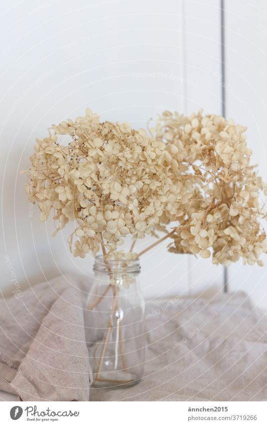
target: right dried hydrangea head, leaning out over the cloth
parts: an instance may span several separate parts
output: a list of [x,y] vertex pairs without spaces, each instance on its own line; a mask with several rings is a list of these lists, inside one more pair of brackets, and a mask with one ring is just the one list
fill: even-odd
[[171,182],[176,199],[164,210],[166,220],[178,221],[169,250],[200,254],[228,265],[243,258],[262,265],[267,251],[261,192],[266,184],[250,164],[246,128],[218,115],[188,117],[163,112],[155,129],[171,157]]

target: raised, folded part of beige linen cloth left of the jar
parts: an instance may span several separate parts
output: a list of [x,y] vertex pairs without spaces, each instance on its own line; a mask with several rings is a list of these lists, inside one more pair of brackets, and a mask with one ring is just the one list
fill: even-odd
[[88,401],[91,367],[77,277],[0,299],[0,389],[23,401]]

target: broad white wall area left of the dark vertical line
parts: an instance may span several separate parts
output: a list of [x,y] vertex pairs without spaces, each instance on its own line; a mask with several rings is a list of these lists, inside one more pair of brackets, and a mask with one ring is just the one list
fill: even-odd
[[[69,253],[70,228],[51,237],[52,221],[39,222],[19,171],[36,137],[87,106],[134,127],[166,108],[220,113],[219,0],[11,0],[0,28],[1,287],[11,285],[5,253],[21,286],[70,270],[90,277],[93,259]],[[221,288],[220,266],[164,248],[142,260],[146,296]]]

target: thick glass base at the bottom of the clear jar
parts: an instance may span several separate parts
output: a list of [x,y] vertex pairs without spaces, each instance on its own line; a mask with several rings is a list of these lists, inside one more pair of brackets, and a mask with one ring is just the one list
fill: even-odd
[[93,387],[125,388],[135,386],[141,380],[136,374],[127,371],[103,372],[96,379],[94,374]]

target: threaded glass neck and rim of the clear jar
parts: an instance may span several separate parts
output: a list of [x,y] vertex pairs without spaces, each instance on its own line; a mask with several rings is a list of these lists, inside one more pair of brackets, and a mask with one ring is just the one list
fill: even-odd
[[96,256],[94,271],[107,274],[130,274],[138,275],[140,272],[139,259],[135,260],[116,260],[111,259],[105,262],[103,256]]

